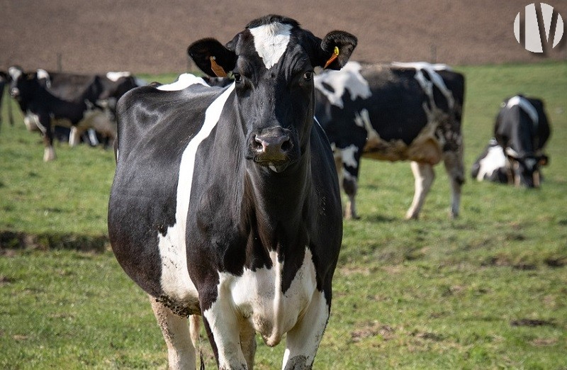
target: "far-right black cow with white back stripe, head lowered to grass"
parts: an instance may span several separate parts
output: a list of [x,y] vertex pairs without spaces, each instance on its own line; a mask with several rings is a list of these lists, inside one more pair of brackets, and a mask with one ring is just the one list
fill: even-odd
[[502,103],[494,136],[506,157],[507,182],[539,187],[540,170],[548,162],[543,150],[551,127],[541,99],[512,96]]

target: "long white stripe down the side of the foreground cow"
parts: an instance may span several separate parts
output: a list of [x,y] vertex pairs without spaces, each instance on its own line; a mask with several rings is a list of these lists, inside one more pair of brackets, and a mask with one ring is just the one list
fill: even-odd
[[197,296],[196,288],[189,278],[189,271],[187,271],[185,238],[185,226],[187,212],[189,211],[189,199],[191,198],[191,184],[193,182],[193,169],[195,167],[197,149],[215,128],[228,96],[234,88],[234,84],[230,85],[223,94],[210,104],[205,113],[203,127],[185,148],[179,166],[175,224],[167,229],[165,236],[162,236],[159,232],[157,234],[159,254],[162,257],[162,289],[167,296],[180,301],[186,300],[188,296]]

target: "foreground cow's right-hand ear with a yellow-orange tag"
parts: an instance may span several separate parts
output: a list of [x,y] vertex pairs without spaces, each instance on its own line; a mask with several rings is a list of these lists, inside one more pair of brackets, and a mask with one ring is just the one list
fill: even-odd
[[327,33],[321,41],[321,52],[315,65],[324,69],[341,69],[349,61],[349,57],[357,47],[356,36],[334,30]]

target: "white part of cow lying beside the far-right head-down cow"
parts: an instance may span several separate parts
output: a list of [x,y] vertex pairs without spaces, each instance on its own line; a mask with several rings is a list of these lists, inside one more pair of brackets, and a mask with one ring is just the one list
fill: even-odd
[[495,138],[490,139],[482,154],[473,163],[471,177],[478,181],[508,182],[506,155]]

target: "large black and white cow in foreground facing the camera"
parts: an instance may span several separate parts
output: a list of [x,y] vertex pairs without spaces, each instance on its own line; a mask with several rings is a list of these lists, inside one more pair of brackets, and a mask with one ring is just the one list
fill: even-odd
[[189,315],[203,315],[220,369],[252,369],[255,332],[269,346],[286,335],[284,369],[311,368],[342,240],[313,69],[339,69],[356,43],[265,16],[225,46],[189,47],[206,74],[232,72],[228,87],[145,86],[118,102],[108,232],[150,295],[170,368],[195,368]]

